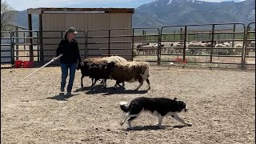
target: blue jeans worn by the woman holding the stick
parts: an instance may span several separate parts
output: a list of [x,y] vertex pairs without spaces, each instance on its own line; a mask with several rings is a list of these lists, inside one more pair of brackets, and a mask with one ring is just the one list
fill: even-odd
[[66,77],[68,74],[68,69],[70,69],[70,80],[69,80],[69,84],[67,86],[67,92],[71,92],[73,83],[74,83],[74,74],[75,74],[77,65],[78,64],[76,62],[71,63],[71,64],[61,63],[61,68],[62,68],[61,90],[64,90],[64,88],[66,86]]

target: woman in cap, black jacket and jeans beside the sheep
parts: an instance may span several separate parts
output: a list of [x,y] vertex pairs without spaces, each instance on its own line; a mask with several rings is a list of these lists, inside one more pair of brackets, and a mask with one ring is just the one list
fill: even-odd
[[60,58],[61,69],[62,69],[62,82],[61,82],[61,91],[64,92],[66,86],[66,77],[68,75],[68,69],[70,69],[70,80],[67,86],[66,95],[71,95],[72,86],[74,83],[74,74],[76,70],[76,66],[78,62],[83,65],[79,50],[78,50],[78,42],[74,39],[75,34],[78,32],[74,29],[74,27],[70,27],[69,30],[66,30],[64,38],[59,43],[58,48],[56,50],[55,58],[58,57],[59,54],[63,54]]

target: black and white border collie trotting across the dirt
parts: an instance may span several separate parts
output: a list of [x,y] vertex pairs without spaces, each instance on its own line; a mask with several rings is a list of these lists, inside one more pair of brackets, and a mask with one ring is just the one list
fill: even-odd
[[182,111],[186,112],[187,107],[185,102],[179,101],[177,98],[174,98],[174,100],[170,98],[134,98],[129,106],[127,102],[120,102],[120,108],[126,113],[121,126],[129,118],[129,128],[132,128],[131,122],[135,118],[138,118],[143,111],[148,111],[150,114],[158,116],[159,128],[162,128],[162,118],[168,115],[171,115],[178,122],[182,122],[186,126],[192,126],[192,123],[185,122],[182,118],[178,117],[178,113]]

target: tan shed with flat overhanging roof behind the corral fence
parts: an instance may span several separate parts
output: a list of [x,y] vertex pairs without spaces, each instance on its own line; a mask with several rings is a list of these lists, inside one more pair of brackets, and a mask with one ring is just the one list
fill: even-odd
[[[134,9],[126,8],[36,8],[28,9],[28,29],[32,30],[31,14],[39,14],[39,33],[40,33],[40,60],[49,61],[54,50],[57,49],[58,42],[61,41],[65,30],[70,26],[78,30],[78,43],[82,58],[86,55],[86,31],[90,32],[90,37],[109,35],[100,29],[132,28],[132,14]],[[122,31],[122,34],[131,34],[132,30]],[[117,32],[112,33],[116,34]],[[32,33],[30,33],[32,36]],[[101,38],[98,42],[106,42],[108,38]],[[120,40],[120,38],[116,38]],[[122,39],[123,40],[123,39]],[[121,40],[120,40],[121,41]],[[90,55],[105,55],[107,52],[100,50],[106,48],[107,44],[91,45]],[[120,47],[113,44],[111,48]],[[122,45],[123,48],[130,48],[130,44]],[[32,48],[30,48],[32,50]],[[129,50],[115,50],[113,55],[127,54]],[[131,53],[131,51],[129,51]],[[32,54],[32,53],[31,53]],[[129,58],[130,59],[130,58]]]

